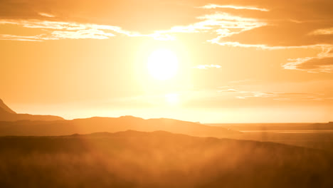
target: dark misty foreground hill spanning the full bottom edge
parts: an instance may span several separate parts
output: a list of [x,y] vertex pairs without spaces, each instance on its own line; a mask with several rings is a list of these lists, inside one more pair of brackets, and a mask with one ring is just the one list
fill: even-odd
[[332,169],[319,150],[162,131],[0,137],[4,187],[332,187]]

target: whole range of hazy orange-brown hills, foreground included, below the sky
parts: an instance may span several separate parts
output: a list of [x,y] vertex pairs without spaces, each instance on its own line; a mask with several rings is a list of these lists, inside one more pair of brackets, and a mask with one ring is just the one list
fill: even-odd
[[243,135],[166,118],[18,114],[0,100],[0,187],[333,186],[331,152]]

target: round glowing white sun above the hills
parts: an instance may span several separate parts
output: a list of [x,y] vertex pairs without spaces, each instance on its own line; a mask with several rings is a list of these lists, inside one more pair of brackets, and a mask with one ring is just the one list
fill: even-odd
[[147,68],[153,78],[157,80],[169,80],[178,71],[178,59],[172,51],[158,49],[150,54]]

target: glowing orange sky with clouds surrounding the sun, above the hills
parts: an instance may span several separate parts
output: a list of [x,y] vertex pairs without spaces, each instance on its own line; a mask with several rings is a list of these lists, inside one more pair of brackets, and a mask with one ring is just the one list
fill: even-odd
[[[0,1],[0,98],[18,113],[200,122],[333,117],[333,1]],[[168,80],[154,51],[176,56]]]

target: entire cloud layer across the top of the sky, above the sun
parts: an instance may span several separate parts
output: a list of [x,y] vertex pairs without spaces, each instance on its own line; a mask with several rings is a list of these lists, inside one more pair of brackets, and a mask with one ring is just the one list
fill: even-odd
[[[100,35],[91,34],[91,37],[100,39],[110,38],[112,34],[115,36],[121,34],[171,41],[176,40],[178,34],[189,33],[196,37],[196,34],[200,33],[205,35],[203,38],[206,40],[203,40],[209,43],[260,49],[297,48],[296,46],[333,43],[333,35],[329,34],[332,33],[333,26],[331,21],[333,19],[331,14],[333,1],[329,0],[309,1],[307,4],[304,4],[303,1],[255,0],[251,1],[251,6],[246,6],[245,4],[248,2],[243,0],[224,1],[225,4],[200,2],[201,5],[199,2],[189,5],[189,2],[186,1],[184,4],[174,1],[170,1],[168,4],[154,1],[147,6],[138,6],[137,9],[130,8],[127,1],[117,4],[114,1],[97,1],[99,3],[82,1],[82,3],[80,2],[82,5],[78,8],[75,3],[67,1],[22,0],[17,3],[5,0],[0,3],[0,6],[4,7],[4,11],[0,13],[0,19],[26,28],[75,30],[75,33],[62,32],[61,35],[59,35],[61,32],[56,32],[56,36],[68,36],[68,38],[80,36],[78,33],[88,31],[96,33],[94,29],[97,29],[99,30],[97,33]],[[134,5],[141,4],[133,3]],[[286,3],[288,6],[285,6]],[[118,6],[121,6],[122,11],[115,11]],[[51,11],[48,7],[54,8]],[[194,7],[205,10],[196,9],[194,11]],[[156,11],[151,11],[152,8]],[[208,11],[208,14],[202,15],[203,11]],[[142,15],[142,12],[146,14]],[[98,24],[87,27],[88,23]],[[104,28],[96,28],[96,26],[117,29],[104,30]],[[161,29],[156,29],[159,26]],[[137,27],[137,29],[128,29],[132,27]],[[141,33],[145,30],[149,32]],[[51,33],[53,31],[45,34],[50,35]],[[56,36],[47,38],[56,38]],[[89,35],[85,34],[85,36]]]

